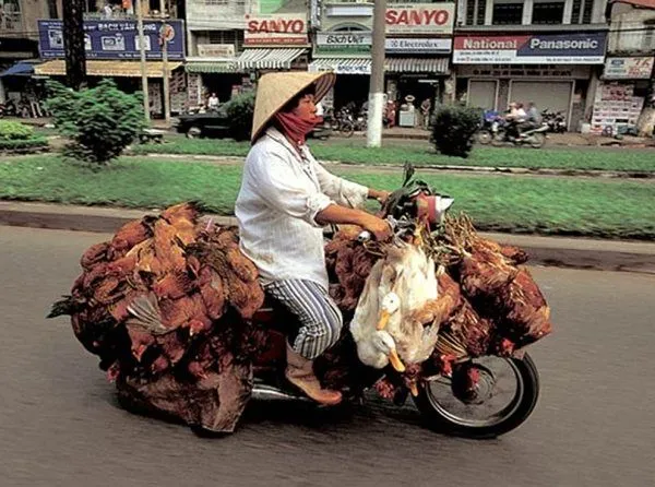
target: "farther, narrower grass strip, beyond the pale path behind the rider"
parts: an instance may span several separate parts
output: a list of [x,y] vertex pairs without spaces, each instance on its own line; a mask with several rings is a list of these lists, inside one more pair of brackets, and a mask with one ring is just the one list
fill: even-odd
[[[655,151],[598,147],[475,147],[471,157],[462,159],[434,152],[426,141],[386,141],[381,149],[367,149],[360,139],[310,141],[313,154],[322,161],[353,164],[391,164],[405,162],[417,166],[491,166],[570,170],[618,170],[655,173]],[[233,140],[189,140],[172,136],[157,145],[135,145],[134,154],[189,154],[245,156],[250,145]]]

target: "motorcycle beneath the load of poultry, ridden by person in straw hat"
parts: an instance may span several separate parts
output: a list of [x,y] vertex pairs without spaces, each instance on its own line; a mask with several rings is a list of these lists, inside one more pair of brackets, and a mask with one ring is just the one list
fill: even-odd
[[[395,212],[388,219],[395,236],[402,237],[408,229],[408,219],[403,215],[429,215],[430,222],[434,223],[452,201],[417,191],[396,206],[401,213]],[[359,235],[360,242],[370,240],[370,234],[364,231]],[[284,377],[285,336],[294,325],[291,316],[275,301],[266,300],[264,307],[254,314],[253,322],[266,331],[270,340],[267,348],[255,360],[252,397],[311,402],[293,389]],[[392,365],[385,369],[364,366],[357,359],[356,346],[349,333],[338,347],[341,349],[329,351],[324,357],[319,357],[314,370],[319,377],[325,371],[334,371],[334,357],[342,357],[336,365],[349,377],[347,385],[342,388],[346,400],[364,397],[365,390],[372,388],[382,377],[394,373]],[[327,358],[331,354],[332,359]],[[395,404],[404,404],[408,395],[409,390],[401,388],[394,397]],[[538,372],[525,353],[505,357],[464,358],[451,371],[445,368],[424,370],[421,380],[412,390],[413,401],[429,428],[475,439],[495,438],[519,427],[533,412],[538,395]],[[198,432],[202,433],[200,430]]]

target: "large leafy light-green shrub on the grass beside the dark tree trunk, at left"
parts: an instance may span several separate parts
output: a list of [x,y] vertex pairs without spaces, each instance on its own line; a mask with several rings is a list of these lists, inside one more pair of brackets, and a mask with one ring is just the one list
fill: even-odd
[[140,95],[129,95],[111,80],[96,87],[73,92],[50,83],[47,102],[59,131],[72,142],[68,156],[98,165],[118,157],[145,128]]

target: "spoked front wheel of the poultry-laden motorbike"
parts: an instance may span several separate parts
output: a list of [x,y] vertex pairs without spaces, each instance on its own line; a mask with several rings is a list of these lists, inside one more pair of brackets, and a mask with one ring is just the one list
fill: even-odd
[[[419,387],[414,402],[429,428],[487,439],[512,431],[529,417],[539,397],[539,375],[527,354],[522,359],[480,357],[464,367],[452,380],[439,378]],[[457,391],[455,375],[467,372],[477,376],[475,387]]]

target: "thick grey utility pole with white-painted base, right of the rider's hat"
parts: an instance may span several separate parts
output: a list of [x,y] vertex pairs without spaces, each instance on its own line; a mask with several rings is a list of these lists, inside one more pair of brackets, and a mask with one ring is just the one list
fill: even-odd
[[373,48],[367,130],[367,146],[369,147],[379,147],[382,145],[385,14],[386,0],[376,0],[373,8]]

